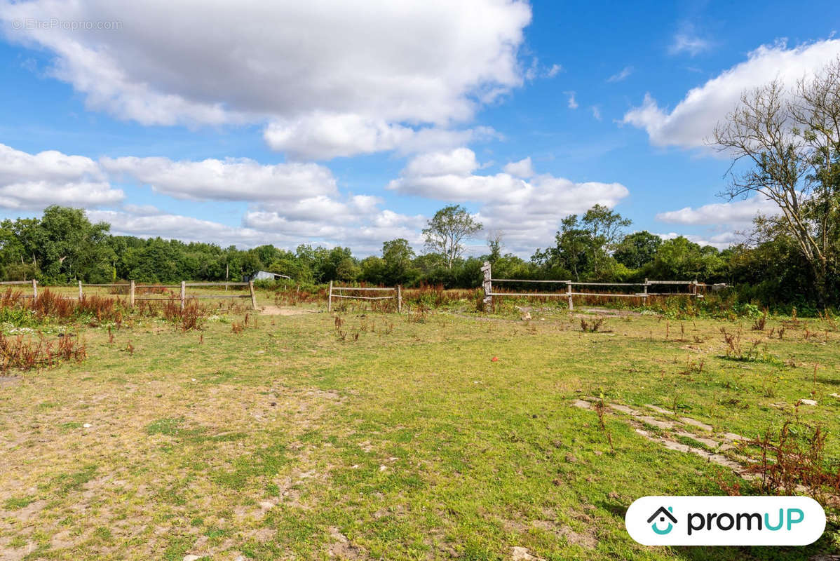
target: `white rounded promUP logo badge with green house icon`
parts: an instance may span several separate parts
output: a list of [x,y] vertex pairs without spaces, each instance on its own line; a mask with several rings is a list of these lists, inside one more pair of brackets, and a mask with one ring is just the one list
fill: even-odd
[[807,545],[826,514],[804,496],[646,496],[624,522],[644,545]]

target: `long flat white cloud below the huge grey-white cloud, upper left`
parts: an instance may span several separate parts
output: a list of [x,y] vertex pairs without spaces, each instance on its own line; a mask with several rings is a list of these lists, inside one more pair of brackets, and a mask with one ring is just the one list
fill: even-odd
[[154,191],[192,201],[289,201],[337,192],[332,172],[318,164],[134,156],[102,158],[101,163],[115,176],[131,176]]

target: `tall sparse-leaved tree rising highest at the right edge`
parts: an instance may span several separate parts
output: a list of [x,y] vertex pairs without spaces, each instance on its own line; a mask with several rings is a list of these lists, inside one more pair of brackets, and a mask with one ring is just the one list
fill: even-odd
[[732,155],[723,195],[759,195],[779,207],[756,221],[757,233],[795,240],[824,306],[840,228],[840,57],[790,91],[774,80],[744,92],[711,144]]

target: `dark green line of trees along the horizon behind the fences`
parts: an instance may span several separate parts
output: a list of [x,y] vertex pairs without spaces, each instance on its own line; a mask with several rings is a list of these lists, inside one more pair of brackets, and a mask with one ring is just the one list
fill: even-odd
[[[465,257],[465,239],[477,235],[481,225],[463,207],[449,206],[429,221],[422,254],[406,239],[391,239],[380,254],[360,258],[346,247],[301,244],[288,250],[265,244],[237,249],[112,235],[108,223],[91,223],[82,209],[54,206],[40,218],[0,223],[0,267],[4,280],[36,278],[44,285],[240,281],[243,275],[268,270],[291,276],[291,282],[302,286],[336,281],[473,288],[480,286],[480,267],[489,261],[496,278],[699,279],[734,283],[744,300],[767,305],[817,300],[811,268],[795,240],[783,235],[719,251],[684,237],[664,240],[647,231],[627,233],[630,226],[618,212],[596,205],[564,218],[554,244],[537,249],[530,259],[506,252],[504,235],[497,232],[488,238],[486,254]],[[836,276],[831,281],[835,289],[840,287]],[[836,299],[831,303],[836,305]]]

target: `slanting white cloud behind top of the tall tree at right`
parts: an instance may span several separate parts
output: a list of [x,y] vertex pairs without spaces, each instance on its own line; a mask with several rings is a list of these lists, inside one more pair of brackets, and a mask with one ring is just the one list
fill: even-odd
[[706,81],[685,95],[673,111],[645,94],[640,107],[625,113],[623,123],[643,128],[651,144],[684,148],[705,146],[715,125],[734,109],[742,92],[778,77],[788,86],[822,69],[840,55],[840,39],[827,39],[788,49],[784,44],[762,45],[747,60]]

